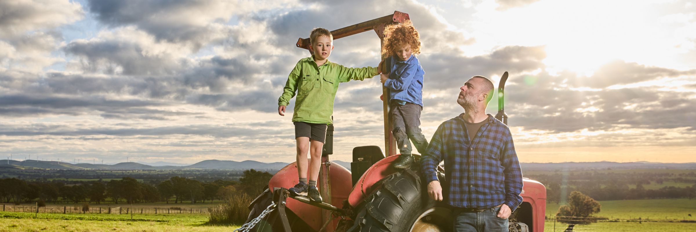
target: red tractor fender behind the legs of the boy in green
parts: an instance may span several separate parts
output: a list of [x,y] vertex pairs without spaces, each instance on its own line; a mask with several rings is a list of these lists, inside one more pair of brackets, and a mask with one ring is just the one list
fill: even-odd
[[[309,176],[309,170],[307,171]],[[341,208],[343,201],[348,199],[348,193],[351,188],[351,173],[340,164],[331,162],[329,165],[329,174],[331,176],[331,205]],[[273,190],[274,187],[284,187],[289,189],[298,182],[297,162],[287,164],[280,169],[269,181],[268,187]],[[317,185],[319,185],[317,183]],[[322,209],[316,206],[311,206],[302,203],[292,198],[287,199],[285,205],[287,209],[292,210],[302,221],[308,224],[315,231],[322,228]],[[338,219],[335,219],[338,222]]]

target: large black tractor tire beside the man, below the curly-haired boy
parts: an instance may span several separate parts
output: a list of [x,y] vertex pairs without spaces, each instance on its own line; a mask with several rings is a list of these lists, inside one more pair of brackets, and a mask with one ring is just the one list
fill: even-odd
[[450,210],[430,199],[419,167],[414,164],[384,178],[381,187],[356,207],[355,222],[348,231],[452,231]]

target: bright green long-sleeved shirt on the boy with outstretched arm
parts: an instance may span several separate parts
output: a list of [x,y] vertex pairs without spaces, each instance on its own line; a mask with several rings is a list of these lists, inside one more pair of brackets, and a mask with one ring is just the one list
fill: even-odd
[[287,105],[290,98],[295,100],[293,122],[331,124],[333,99],[340,82],[363,80],[379,75],[377,68],[346,68],[328,60],[317,67],[313,56],[301,59],[287,77],[283,95],[278,98],[278,106]]

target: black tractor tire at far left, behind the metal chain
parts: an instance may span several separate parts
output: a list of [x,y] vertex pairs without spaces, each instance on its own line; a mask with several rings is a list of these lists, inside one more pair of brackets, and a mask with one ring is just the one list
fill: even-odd
[[[249,212],[249,216],[247,217],[246,222],[244,222],[244,224],[251,222],[251,220],[261,215],[261,212],[266,210],[266,208],[271,205],[271,201],[273,201],[273,192],[268,190],[268,188],[265,188],[264,192],[257,196],[256,199],[252,202],[253,205],[249,206],[249,208],[251,208],[251,212]],[[292,212],[292,210],[285,209],[285,212],[287,214],[287,221],[290,222],[290,229],[292,229],[292,231],[312,231],[312,229],[310,229],[310,226],[308,226],[299,217],[297,217],[297,215],[295,215]],[[277,217],[277,214],[278,211],[273,210],[273,212],[269,213],[269,215],[267,215],[264,219],[261,219],[261,221],[258,222],[258,224],[256,224],[249,231],[284,231],[283,224],[282,222],[280,222],[280,218]],[[269,219],[271,219],[272,222],[269,221]]]

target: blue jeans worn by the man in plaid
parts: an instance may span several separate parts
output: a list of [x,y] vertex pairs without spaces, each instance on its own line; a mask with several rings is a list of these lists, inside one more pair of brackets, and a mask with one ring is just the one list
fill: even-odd
[[483,212],[454,208],[454,231],[457,232],[507,232],[507,219],[498,217],[500,207]]

